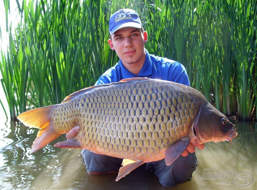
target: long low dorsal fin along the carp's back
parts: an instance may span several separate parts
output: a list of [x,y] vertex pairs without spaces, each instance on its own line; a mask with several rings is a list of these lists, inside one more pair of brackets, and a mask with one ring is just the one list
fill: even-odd
[[130,82],[135,82],[135,81],[144,81],[144,80],[149,80],[149,79],[150,78],[141,78],[141,77],[125,78],[125,79],[122,79],[120,82],[113,82],[113,83],[108,83],[108,84],[99,84],[99,85],[90,86],[90,87],[83,88],[77,92],[74,92],[74,93],[66,96],[61,103],[69,102],[72,99],[74,99],[76,96],[79,96],[81,94],[84,94],[85,92],[91,91],[91,90],[99,88],[99,87],[111,86],[111,85],[116,85],[116,84],[126,83],[126,82],[130,83]]

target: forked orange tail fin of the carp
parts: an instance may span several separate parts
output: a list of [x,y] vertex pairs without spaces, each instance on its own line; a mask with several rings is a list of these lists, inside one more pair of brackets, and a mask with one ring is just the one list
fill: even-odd
[[17,116],[24,125],[40,129],[33,142],[30,154],[43,148],[61,135],[56,132],[50,119],[53,106],[54,105],[32,109]]

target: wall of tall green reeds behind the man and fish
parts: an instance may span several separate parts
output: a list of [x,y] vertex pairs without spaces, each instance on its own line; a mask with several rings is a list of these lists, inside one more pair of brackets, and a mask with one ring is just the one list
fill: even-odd
[[[8,3],[4,1],[6,14]],[[28,0],[17,7],[21,22],[15,33],[8,28],[8,51],[1,51],[0,62],[12,118],[94,85],[118,61],[107,40],[109,17],[120,8],[141,16],[149,53],[182,63],[191,86],[217,109],[240,118],[253,115],[254,0]]]

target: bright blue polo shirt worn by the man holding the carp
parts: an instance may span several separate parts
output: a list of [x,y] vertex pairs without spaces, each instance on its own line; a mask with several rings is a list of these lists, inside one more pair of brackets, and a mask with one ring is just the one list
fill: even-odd
[[120,59],[115,66],[109,68],[102,76],[100,76],[96,85],[119,82],[124,78],[147,77],[190,86],[186,69],[182,64],[171,59],[151,55],[146,49],[145,52],[145,62],[138,75],[134,75],[128,71]]

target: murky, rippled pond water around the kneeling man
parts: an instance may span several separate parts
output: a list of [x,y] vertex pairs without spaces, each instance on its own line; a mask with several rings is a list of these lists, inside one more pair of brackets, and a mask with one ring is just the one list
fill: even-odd
[[[235,189],[235,179],[207,177],[204,172],[218,171],[252,174],[257,180],[257,124],[232,121],[238,136],[229,142],[206,143],[197,150],[199,165],[190,182],[175,188],[162,187],[144,166],[115,182],[117,174],[92,176],[83,167],[79,149],[53,147],[61,136],[43,149],[29,154],[38,129],[25,127],[19,122],[3,123],[0,127],[0,189]],[[223,175],[223,174],[222,174]],[[238,174],[239,185],[243,177]],[[248,189],[257,189],[257,182]],[[242,187],[240,187],[242,188]]]

